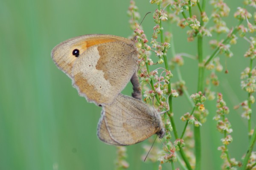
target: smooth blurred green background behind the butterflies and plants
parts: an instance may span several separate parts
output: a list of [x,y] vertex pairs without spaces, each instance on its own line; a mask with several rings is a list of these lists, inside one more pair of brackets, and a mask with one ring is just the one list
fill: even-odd
[[[242,1],[227,3],[231,8],[227,25],[236,26],[233,13]],[[116,147],[96,136],[101,108],[78,95],[71,80],[52,62],[50,52],[58,43],[83,34],[128,37],[132,34],[128,6],[128,0],[0,0],[0,170],[113,170]],[[137,6],[141,15],[156,8],[148,1],[139,1]],[[151,17],[143,22],[148,37],[154,26]],[[172,30],[176,52],[195,55],[196,42],[187,42],[186,30],[176,25]],[[204,45],[204,55],[211,54],[208,44]],[[233,143],[229,150],[238,160],[247,149],[247,121],[241,119],[241,109],[233,110],[233,106],[247,99],[240,88],[240,73],[249,65],[243,57],[248,47],[248,42],[239,40],[231,48],[234,57],[227,60],[229,74],[219,73],[220,85],[215,88],[230,107]],[[181,70],[189,93],[195,93],[197,61],[185,59]],[[176,72],[172,73],[175,81]],[[130,84],[123,94],[131,94]],[[222,135],[212,120],[213,103],[206,103],[210,113],[201,130],[204,170],[217,170],[222,164],[217,150]],[[180,116],[190,111],[184,96],[174,99],[179,134],[184,126]],[[145,141],[127,147],[130,170],[157,169],[158,162],[141,160],[143,143],[151,144]],[[163,169],[170,168],[170,164],[163,165]]]

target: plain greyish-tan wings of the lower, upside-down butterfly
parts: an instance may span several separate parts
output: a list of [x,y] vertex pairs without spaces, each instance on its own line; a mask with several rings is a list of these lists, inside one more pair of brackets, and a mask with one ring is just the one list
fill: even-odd
[[[114,145],[136,144],[162,129],[160,119],[138,99],[119,94],[112,105],[105,105],[102,109],[98,130],[102,125],[106,130],[98,131],[98,136],[108,144],[113,144],[112,141],[118,143]],[[108,138],[102,138],[102,133],[106,132]]]

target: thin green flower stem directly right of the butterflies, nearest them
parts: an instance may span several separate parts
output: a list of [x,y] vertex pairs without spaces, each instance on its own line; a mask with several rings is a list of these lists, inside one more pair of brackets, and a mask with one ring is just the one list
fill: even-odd
[[[158,5],[158,10],[160,11],[161,10],[161,6],[160,4]],[[159,26],[160,28],[162,28],[162,21],[160,20],[160,23],[159,23]],[[163,30],[161,29],[160,30],[160,38],[161,38],[161,43],[163,44],[164,41],[163,41]],[[165,63],[165,67],[166,67],[166,70],[169,70],[169,66],[168,66],[168,61],[167,61],[167,57],[166,57],[166,49],[164,48],[163,50],[163,60],[164,60],[164,63]],[[170,80],[169,80],[170,82]],[[168,94],[171,94],[171,83],[168,84]],[[174,133],[174,136],[175,136],[175,139],[178,139],[178,133],[177,133],[177,129],[176,129],[176,125],[175,125],[175,122],[174,122],[174,118],[173,118],[173,110],[172,110],[172,94],[169,95],[169,111],[167,112],[168,116],[169,116],[169,119],[170,119],[170,122],[171,122],[171,125],[172,125],[172,129],[173,129],[173,133]],[[179,146],[180,147],[180,146]],[[185,162],[187,168],[189,170],[192,170],[192,167],[190,166],[189,164],[189,161],[188,159],[186,158],[186,155],[183,151],[183,148],[180,147],[180,155],[181,157],[183,158],[183,161]]]

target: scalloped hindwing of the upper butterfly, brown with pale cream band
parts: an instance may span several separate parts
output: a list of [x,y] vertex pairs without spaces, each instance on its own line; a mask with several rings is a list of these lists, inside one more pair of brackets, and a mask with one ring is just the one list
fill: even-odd
[[74,63],[73,85],[87,100],[111,104],[137,71],[136,57],[121,41],[90,47]]

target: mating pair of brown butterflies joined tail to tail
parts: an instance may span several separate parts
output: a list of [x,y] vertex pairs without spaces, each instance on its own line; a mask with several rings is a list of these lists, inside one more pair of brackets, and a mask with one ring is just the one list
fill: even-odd
[[[88,102],[102,106],[97,135],[113,145],[142,142],[153,134],[165,134],[159,114],[141,101],[134,40],[104,34],[88,34],[61,42],[52,59],[72,79],[72,85]],[[120,92],[131,80],[133,97]]]

